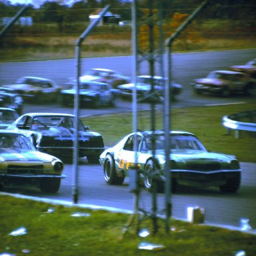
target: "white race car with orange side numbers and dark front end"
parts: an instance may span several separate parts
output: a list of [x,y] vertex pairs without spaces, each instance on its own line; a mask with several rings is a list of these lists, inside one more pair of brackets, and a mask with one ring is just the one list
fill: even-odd
[[[169,137],[173,192],[179,184],[198,187],[218,186],[224,192],[236,192],[239,189],[241,168],[235,156],[210,153],[193,133],[171,131]],[[104,179],[109,185],[123,184],[128,170],[133,167],[139,170],[139,183],[144,183],[151,191],[154,175],[157,191],[163,192],[165,132],[130,133],[116,145],[103,151],[99,161],[103,166]]]

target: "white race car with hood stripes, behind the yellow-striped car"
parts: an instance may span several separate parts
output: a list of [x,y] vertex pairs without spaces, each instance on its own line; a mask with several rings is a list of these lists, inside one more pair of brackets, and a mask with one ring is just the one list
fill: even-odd
[[[26,135],[38,151],[70,161],[75,141],[75,116],[63,113],[26,113],[7,129]],[[87,157],[89,163],[99,162],[104,150],[103,137],[89,131],[79,119],[79,157]]]

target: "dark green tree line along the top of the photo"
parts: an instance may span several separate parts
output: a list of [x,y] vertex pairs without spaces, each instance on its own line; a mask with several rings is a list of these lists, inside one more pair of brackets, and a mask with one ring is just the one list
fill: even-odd
[[[191,13],[203,0],[162,0],[163,19],[171,19],[174,13]],[[97,9],[110,5],[109,11],[121,15],[122,20],[131,20],[131,1],[121,0],[87,0],[77,1],[72,5],[65,4],[65,0],[45,1],[39,8],[28,5],[24,16],[33,18],[33,23],[73,23],[87,22],[89,15]],[[139,9],[149,6],[149,0],[138,0]],[[153,1],[153,6],[159,8],[159,1]],[[22,4],[11,4],[8,0],[0,0],[1,17],[13,17]],[[211,0],[201,19],[230,19],[240,21],[255,20],[255,0]]]

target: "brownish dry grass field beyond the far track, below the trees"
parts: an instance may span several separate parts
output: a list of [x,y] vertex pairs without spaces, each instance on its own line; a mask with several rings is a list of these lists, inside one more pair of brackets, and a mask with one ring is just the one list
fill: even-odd
[[[68,59],[75,57],[75,42],[79,35],[17,36],[12,47],[0,47],[0,61],[37,61]],[[255,38],[202,37],[198,43],[181,41],[173,43],[172,51],[218,51],[230,49],[253,49]],[[165,50],[165,49],[164,49]],[[82,44],[81,57],[109,57],[132,54],[132,41],[123,35],[91,35]]]

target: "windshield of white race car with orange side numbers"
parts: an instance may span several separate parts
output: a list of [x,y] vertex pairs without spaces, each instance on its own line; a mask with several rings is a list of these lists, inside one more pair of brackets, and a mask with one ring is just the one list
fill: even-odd
[[[192,149],[206,151],[203,144],[191,135],[171,135],[171,149]],[[152,136],[145,138],[145,145],[148,150],[153,149]],[[155,135],[155,149],[165,149],[165,135]]]

